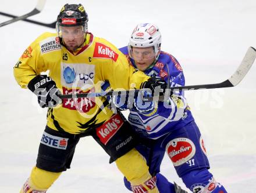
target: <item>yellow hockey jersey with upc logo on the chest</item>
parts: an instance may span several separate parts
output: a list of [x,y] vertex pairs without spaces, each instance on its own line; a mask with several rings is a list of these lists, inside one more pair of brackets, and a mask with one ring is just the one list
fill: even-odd
[[[115,46],[105,39],[87,33],[83,48],[73,53],[54,33],[45,32],[27,48],[14,67],[16,81],[22,88],[36,75],[49,71],[49,76],[63,94],[100,92],[102,81],[113,89],[139,88],[147,81],[136,71]],[[48,109],[49,128],[72,134],[84,133],[113,115],[105,97],[63,99],[61,105]]]

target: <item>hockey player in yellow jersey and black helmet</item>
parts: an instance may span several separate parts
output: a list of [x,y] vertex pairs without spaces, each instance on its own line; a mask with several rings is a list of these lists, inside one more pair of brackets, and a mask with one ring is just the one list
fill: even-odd
[[[134,192],[158,192],[145,160],[134,149],[136,136],[129,123],[109,110],[104,97],[58,97],[98,92],[103,81],[109,81],[113,89],[161,82],[134,70],[115,46],[87,31],[87,21],[81,4],[66,4],[58,15],[56,33],[45,32],[35,39],[14,67],[19,85],[36,94],[41,107],[48,107],[37,163],[20,192],[46,192],[70,168],[76,144],[85,136],[93,136],[104,148]],[[40,74],[44,71],[49,75]]]

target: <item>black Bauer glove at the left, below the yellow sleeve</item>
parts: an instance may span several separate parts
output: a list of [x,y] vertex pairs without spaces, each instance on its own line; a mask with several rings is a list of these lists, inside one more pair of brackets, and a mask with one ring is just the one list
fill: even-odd
[[37,101],[42,108],[55,107],[62,103],[59,98],[61,90],[56,87],[56,83],[47,75],[37,75],[29,82],[27,87],[37,95]]

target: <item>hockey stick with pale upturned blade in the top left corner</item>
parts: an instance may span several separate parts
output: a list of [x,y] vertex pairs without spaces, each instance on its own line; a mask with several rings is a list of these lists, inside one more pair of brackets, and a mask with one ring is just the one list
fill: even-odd
[[42,9],[44,8],[45,2],[46,2],[46,0],[38,0],[37,5],[31,12],[24,14],[23,16],[15,17],[11,20],[0,23],[0,27],[6,26],[15,21],[23,20],[23,19],[26,19],[27,17],[34,16],[35,14],[40,13],[42,11]]

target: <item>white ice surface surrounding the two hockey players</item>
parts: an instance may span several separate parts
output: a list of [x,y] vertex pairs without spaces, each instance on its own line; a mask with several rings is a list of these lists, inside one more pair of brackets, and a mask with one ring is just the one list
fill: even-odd
[[[37,0],[1,1],[0,12],[22,15]],[[256,46],[255,0],[47,1],[30,19],[52,23],[66,2],[81,2],[89,31],[118,48],[127,45],[137,23],[156,23],[162,50],[183,67],[186,85],[229,78],[249,46]],[[8,20],[0,16],[0,23]],[[30,174],[46,123],[46,110],[13,78],[13,66],[42,32],[50,28],[18,21],[0,28],[0,192],[19,192]],[[256,63],[256,62],[255,62]],[[234,88],[186,93],[208,150],[211,172],[230,193],[256,192],[256,64]],[[81,139],[72,168],[49,189],[54,193],[129,192],[115,163],[89,137]],[[165,157],[162,173],[184,187]]]

